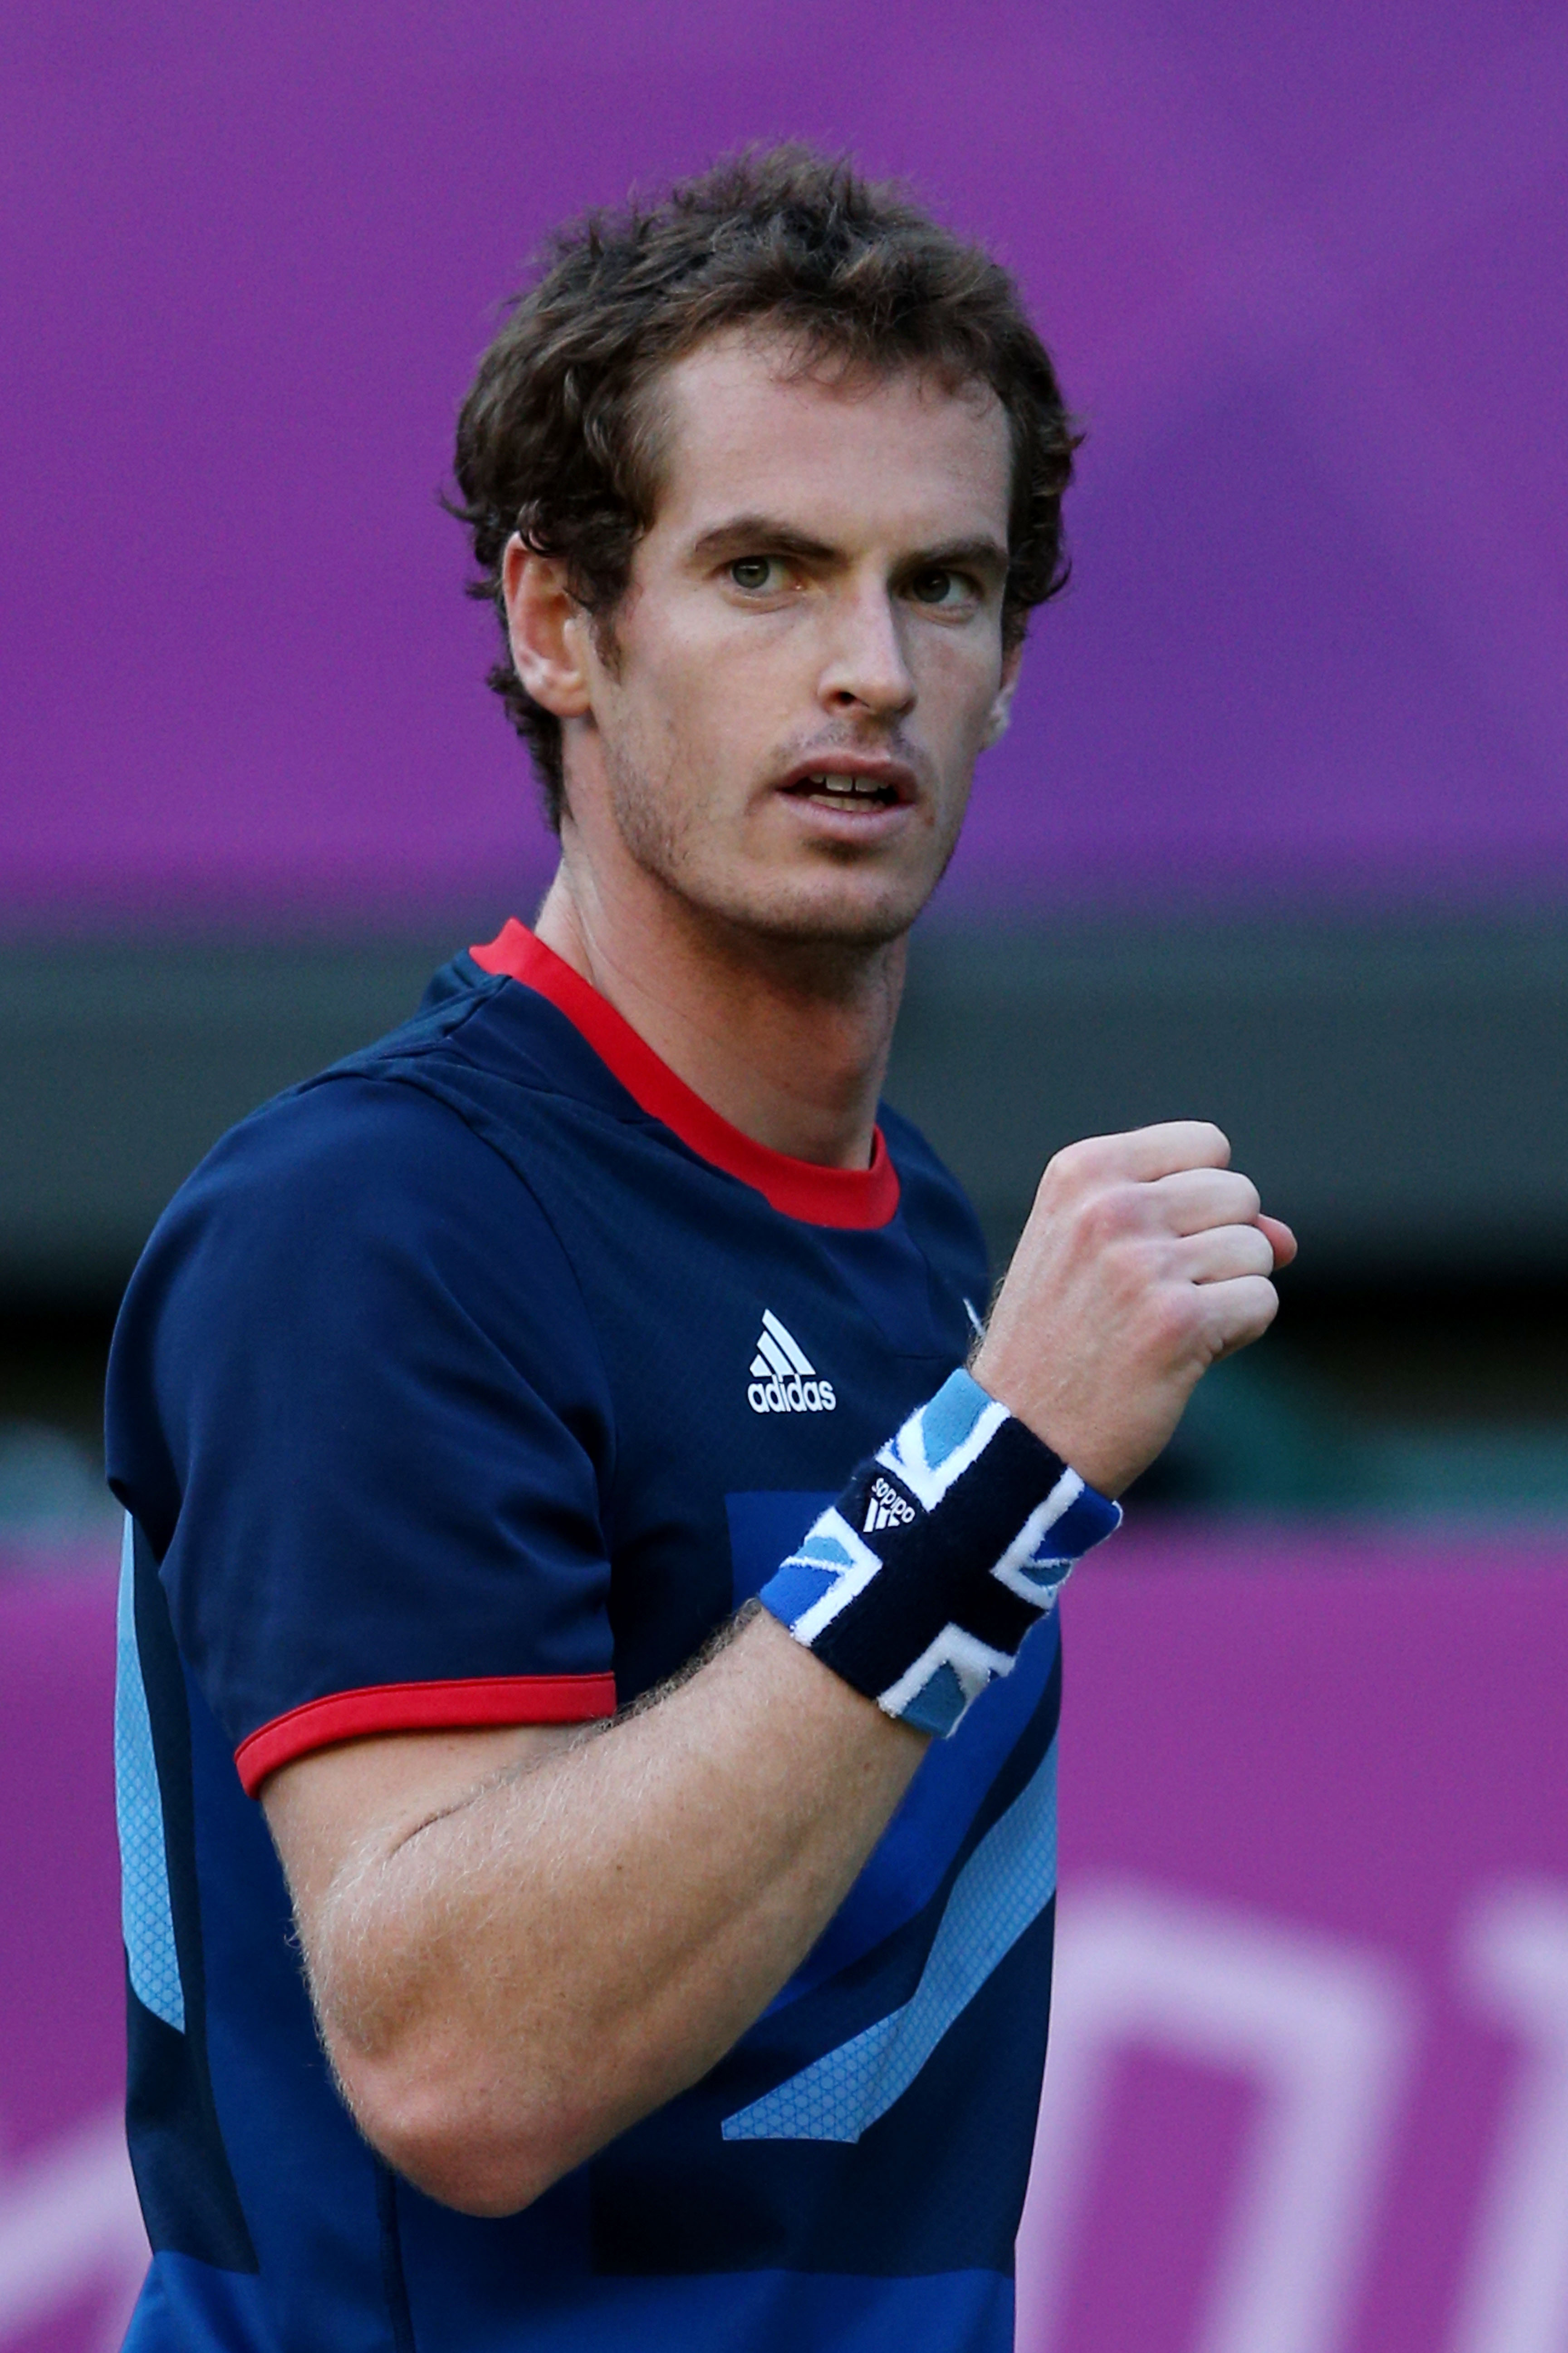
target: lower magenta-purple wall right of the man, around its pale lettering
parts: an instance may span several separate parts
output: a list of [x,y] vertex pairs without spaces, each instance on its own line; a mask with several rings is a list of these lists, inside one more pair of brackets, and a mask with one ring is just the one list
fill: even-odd
[[[1051,2325],[1030,2327],[1041,2249],[1025,2217],[1018,2353],[1526,2353],[1568,2318],[1568,2139],[1519,2167],[1512,2207],[1554,2217],[1556,2320],[1462,2337],[1486,2214],[1530,2092],[1563,2115],[1568,2068],[1568,1567],[1561,1539],[1128,1532],[1063,1602],[1060,1986],[1065,2099],[1084,1995],[1072,1937],[1107,1897],[1150,1906],[1145,1984],[1192,1913],[1211,1967],[1248,1941],[1373,1979],[1403,2026],[1387,2139],[1356,2198],[1340,2322],[1218,2332],[1227,2238],[1246,2235],[1276,2089],[1199,2064],[1161,2031],[1114,2049],[1098,2113],[1063,2153],[1070,2219]],[[1544,1906],[1554,1958],[1528,2033],[1472,1958],[1488,1918]],[[1507,1929],[1505,1929],[1507,1934]],[[1265,1953],[1265,1974],[1276,1962]],[[1241,2007],[1234,1993],[1220,2007]],[[1544,2042],[1540,2040],[1544,2038]],[[1542,2068],[1542,2052],[1547,2064]],[[1051,2068],[1056,2073],[1051,2073]],[[1065,2122],[1065,2120],[1063,2120]],[[1371,2141],[1371,2134],[1366,2137]],[[1366,2146],[1366,2141],[1361,2146]],[[1074,2195],[1077,2193],[1077,2195]],[[1300,2214],[1300,2200],[1298,2200]],[[1340,2252],[1338,2245],[1331,2252]],[[1552,2275],[1552,2266],[1547,2266]]]

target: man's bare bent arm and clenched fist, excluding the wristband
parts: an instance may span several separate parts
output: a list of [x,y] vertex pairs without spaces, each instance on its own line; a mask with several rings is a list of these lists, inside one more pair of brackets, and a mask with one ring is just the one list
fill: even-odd
[[[1105,1492],[1166,1442],[1293,1252],[1213,1127],[1058,1155],[976,1377]],[[527,2205],[696,2082],[842,1904],[924,1737],[769,1617],[597,1734],[301,1758],[263,1802],[369,2139],[475,2214]]]

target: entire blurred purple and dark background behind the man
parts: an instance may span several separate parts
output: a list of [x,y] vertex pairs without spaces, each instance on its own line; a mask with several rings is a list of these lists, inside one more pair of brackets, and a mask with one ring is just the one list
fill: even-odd
[[1020,2353],[1563,2353],[1563,0],[5,9],[0,2346],[143,2259],[120,1289],[534,911],[456,405],[552,221],[773,136],[987,240],[1086,428],[889,1096],[999,1264],[1180,1113],[1302,1238],[1067,1602]]

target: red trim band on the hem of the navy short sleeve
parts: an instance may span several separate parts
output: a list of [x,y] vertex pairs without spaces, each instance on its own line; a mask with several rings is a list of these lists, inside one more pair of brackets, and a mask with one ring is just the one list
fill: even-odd
[[308,1699],[235,1748],[247,1798],[270,1772],[315,1748],[376,1732],[458,1732],[473,1725],[588,1725],[616,1713],[614,1675],[473,1675],[463,1682],[376,1682]]

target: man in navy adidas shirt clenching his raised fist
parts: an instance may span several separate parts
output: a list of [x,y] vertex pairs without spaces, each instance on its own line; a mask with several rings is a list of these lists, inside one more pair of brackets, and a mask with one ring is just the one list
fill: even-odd
[[804,151],[482,365],[559,873],[115,1341],[136,2348],[1011,2344],[1056,1588],[1293,1249],[1208,1125],[1077,1146],[964,1372],[877,1122],[1070,454],[1001,271]]

